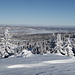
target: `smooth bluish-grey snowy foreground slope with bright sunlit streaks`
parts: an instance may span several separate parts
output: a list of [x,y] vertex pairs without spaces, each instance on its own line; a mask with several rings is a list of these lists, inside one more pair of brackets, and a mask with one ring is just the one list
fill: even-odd
[[0,59],[0,75],[75,75],[75,58],[47,54]]

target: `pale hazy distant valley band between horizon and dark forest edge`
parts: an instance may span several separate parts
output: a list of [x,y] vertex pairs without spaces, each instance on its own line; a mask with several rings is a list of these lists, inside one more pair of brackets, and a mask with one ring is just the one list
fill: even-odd
[[[6,26],[0,26],[0,33]],[[71,33],[75,32],[75,28],[58,28],[58,27],[25,27],[25,26],[7,26],[11,28],[13,34],[42,34],[42,33]]]

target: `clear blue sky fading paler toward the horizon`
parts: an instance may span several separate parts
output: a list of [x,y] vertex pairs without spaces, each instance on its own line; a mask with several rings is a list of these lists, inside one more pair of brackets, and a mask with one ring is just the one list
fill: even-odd
[[0,25],[74,26],[75,0],[0,0]]

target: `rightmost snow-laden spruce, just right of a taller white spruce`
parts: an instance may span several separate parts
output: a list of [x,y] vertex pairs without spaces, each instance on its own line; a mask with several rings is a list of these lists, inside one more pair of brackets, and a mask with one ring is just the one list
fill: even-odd
[[70,38],[67,38],[67,40],[65,41],[65,43],[63,45],[63,50],[64,50],[65,55],[74,56],[74,53],[72,51],[72,44],[71,44]]

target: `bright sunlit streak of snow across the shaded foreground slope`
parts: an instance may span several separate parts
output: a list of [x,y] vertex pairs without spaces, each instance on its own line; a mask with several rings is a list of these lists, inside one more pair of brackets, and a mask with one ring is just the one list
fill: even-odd
[[17,64],[11,65],[7,68],[31,68],[31,67],[40,67],[40,66],[48,66],[49,64],[60,64],[60,63],[72,63],[75,62],[74,58],[65,59],[65,60],[52,60],[52,61],[44,61],[36,64]]

